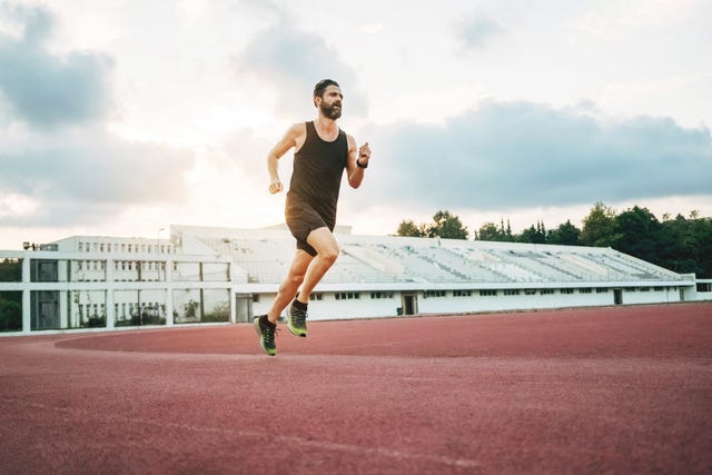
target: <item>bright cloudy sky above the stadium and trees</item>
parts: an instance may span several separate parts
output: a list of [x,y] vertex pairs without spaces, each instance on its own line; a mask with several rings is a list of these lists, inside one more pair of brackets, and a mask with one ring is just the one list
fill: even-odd
[[355,234],[712,216],[711,44],[708,0],[0,1],[0,249],[284,222],[266,156],[323,78]]

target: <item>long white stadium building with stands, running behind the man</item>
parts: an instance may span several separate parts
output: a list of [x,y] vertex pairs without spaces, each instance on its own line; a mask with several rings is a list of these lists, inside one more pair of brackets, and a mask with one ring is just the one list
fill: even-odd
[[[312,295],[310,319],[712,297],[710,281],[610,248],[355,236],[344,227],[336,236],[340,256]],[[283,227],[171,226],[170,240],[75,236],[0,251],[0,265],[17,270],[0,281],[0,299],[21,304],[12,334],[249,321],[269,308],[294,253]]]

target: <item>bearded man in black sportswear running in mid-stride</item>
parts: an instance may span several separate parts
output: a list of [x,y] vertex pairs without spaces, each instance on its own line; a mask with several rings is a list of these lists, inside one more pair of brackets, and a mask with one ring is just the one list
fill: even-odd
[[368,167],[368,142],[360,147],[336,125],[342,117],[344,95],[339,85],[324,79],[314,87],[316,120],[295,123],[267,155],[269,192],[284,189],[278,160],[294,148],[294,171],[287,192],[285,218],[297,239],[297,251],[289,274],[279,286],[267,315],[255,317],[259,344],[268,355],[276,355],[277,319],[289,305],[287,327],[296,336],[307,336],[309,295],[338,257],[338,243],[332,234],[336,225],[336,205],[346,169],[348,184],[358,188]]

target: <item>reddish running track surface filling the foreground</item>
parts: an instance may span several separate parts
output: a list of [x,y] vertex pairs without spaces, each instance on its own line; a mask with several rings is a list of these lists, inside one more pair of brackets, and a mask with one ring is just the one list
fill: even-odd
[[712,473],[712,303],[0,338],[0,473]]

